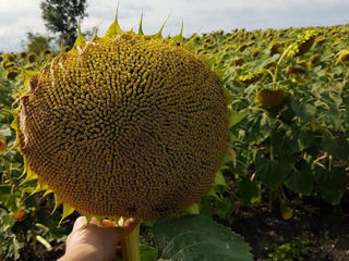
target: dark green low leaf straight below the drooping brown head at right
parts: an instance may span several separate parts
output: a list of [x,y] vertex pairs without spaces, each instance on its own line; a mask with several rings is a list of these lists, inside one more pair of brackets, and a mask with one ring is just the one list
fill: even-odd
[[256,174],[262,184],[269,189],[280,186],[290,173],[290,164],[278,160],[257,158]]

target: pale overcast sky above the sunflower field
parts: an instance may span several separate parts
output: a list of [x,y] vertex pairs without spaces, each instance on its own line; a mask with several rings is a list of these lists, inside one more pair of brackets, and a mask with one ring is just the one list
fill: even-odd
[[[39,9],[40,0],[0,0],[0,51],[23,48],[25,33],[47,34]],[[88,17],[83,29],[98,27],[103,35],[113,21],[117,0],[87,0]],[[143,30],[154,34],[171,13],[164,35],[184,35],[234,28],[265,29],[349,24],[349,0],[120,0],[119,23],[137,29],[144,13]]]

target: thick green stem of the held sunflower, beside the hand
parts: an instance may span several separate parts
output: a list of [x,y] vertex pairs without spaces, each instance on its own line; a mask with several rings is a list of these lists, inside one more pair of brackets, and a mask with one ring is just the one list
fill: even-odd
[[121,240],[122,261],[141,261],[140,224]]

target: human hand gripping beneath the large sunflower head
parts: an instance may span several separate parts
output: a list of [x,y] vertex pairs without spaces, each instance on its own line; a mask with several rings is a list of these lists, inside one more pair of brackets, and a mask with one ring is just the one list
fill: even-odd
[[123,226],[116,226],[115,222],[104,220],[98,225],[98,220],[93,217],[87,224],[86,217],[80,216],[65,240],[65,253],[58,261],[111,261],[121,239],[139,223],[129,219]]

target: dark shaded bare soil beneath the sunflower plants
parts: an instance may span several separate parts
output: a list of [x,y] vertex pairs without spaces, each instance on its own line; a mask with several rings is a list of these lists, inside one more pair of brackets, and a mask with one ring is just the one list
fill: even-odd
[[[268,254],[275,251],[277,246],[297,238],[306,239],[309,244],[305,246],[306,252],[291,261],[349,261],[349,192],[345,195],[341,203],[335,207],[316,197],[288,197],[293,216],[287,221],[281,219],[277,207],[269,212],[267,199],[253,207],[237,202],[230,220],[220,220],[217,216],[215,219],[244,237],[252,247],[255,261],[273,260]],[[72,216],[68,232],[76,216]],[[63,253],[64,244],[53,246],[51,251],[46,251],[44,247],[35,249],[34,252],[24,248],[21,260],[52,261]]]

